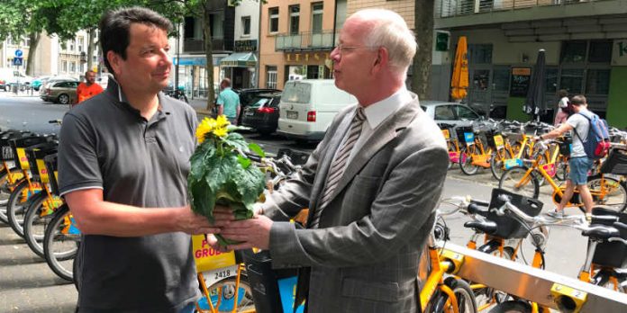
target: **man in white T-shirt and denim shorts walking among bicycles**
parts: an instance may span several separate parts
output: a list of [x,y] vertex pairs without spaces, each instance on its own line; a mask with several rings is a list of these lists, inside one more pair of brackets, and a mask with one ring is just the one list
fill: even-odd
[[594,113],[587,110],[587,102],[584,95],[578,94],[573,96],[570,100],[570,104],[573,109],[573,114],[570,115],[568,120],[561,124],[557,129],[551,130],[550,132],[536,138],[536,140],[554,139],[562,136],[569,130],[576,131],[578,135],[572,136],[573,144],[570,150],[570,159],[568,160],[570,172],[568,173],[564,196],[562,196],[557,208],[549,213],[551,216],[556,218],[564,217],[564,208],[568,204],[568,201],[570,201],[573,197],[575,188],[577,188],[579,196],[586,207],[586,216],[590,216],[594,205],[594,202],[592,201],[592,194],[590,193],[590,189],[587,187],[587,174],[592,168],[594,160],[586,156],[586,151],[584,150],[584,144],[582,142],[582,140],[587,140],[587,134],[590,128],[590,121],[583,115],[591,117]]

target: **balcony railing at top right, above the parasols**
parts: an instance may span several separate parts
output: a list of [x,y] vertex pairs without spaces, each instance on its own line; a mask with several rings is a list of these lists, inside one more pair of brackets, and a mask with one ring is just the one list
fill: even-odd
[[543,5],[567,5],[581,2],[600,2],[607,0],[436,0],[437,15],[451,17],[472,13],[486,13],[529,8]]

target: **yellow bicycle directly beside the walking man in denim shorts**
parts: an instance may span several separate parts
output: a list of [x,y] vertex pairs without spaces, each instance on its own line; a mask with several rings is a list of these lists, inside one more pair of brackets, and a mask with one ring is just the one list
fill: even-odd
[[[565,187],[555,183],[547,169],[541,164],[542,154],[548,149],[546,142],[538,141],[536,146],[538,147],[533,150],[532,158],[529,159],[531,166],[513,166],[508,169],[501,177],[498,187],[510,192],[521,192],[524,196],[538,199],[540,196],[540,177],[542,177],[553,189],[552,200],[558,204],[564,195]],[[596,204],[611,206],[617,211],[625,210],[627,190],[618,180],[606,177],[604,174],[595,174],[588,177],[587,185]],[[577,191],[568,206],[577,206],[579,210],[585,212],[583,202],[579,199]]]

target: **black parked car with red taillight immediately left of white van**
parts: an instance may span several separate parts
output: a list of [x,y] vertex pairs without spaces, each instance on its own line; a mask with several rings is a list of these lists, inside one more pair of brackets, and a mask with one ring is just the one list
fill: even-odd
[[256,103],[248,105],[242,112],[241,125],[269,135],[277,130],[278,103],[280,93],[258,94]]

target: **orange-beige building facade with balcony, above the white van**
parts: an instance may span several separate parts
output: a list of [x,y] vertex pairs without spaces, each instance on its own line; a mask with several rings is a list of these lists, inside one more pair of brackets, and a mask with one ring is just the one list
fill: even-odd
[[[291,79],[332,77],[330,58],[346,1],[270,0],[261,5],[259,86],[283,89]],[[339,13],[339,14],[336,14]]]

